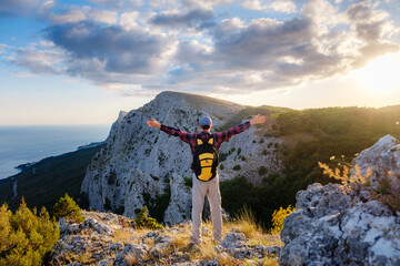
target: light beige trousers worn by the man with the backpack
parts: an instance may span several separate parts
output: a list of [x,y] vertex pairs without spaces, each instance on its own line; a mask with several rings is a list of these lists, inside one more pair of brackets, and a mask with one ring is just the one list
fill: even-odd
[[193,243],[201,241],[201,213],[204,205],[204,197],[208,197],[211,209],[212,233],[216,241],[222,237],[222,214],[221,214],[221,193],[219,190],[219,176],[208,182],[199,181],[193,174],[192,188],[192,223]]

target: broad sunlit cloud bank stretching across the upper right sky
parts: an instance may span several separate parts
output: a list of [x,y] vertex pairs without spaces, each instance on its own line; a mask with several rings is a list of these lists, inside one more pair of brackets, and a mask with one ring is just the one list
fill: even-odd
[[347,73],[399,50],[384,39],[394,30],[386,12],[370,2],[346,11],[311,0],[288,20],[228,19],[210,30],[213,45],[181,43],[169,84],[266,90],[299,85]]

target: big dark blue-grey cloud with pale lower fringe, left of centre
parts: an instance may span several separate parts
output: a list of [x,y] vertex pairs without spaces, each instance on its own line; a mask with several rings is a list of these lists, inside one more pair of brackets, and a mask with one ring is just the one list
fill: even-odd
[[69,54],[69,74],[98,83],[138,83],[162,73],[172,48],[162,34],[88,21],[53,25],[47,38]]

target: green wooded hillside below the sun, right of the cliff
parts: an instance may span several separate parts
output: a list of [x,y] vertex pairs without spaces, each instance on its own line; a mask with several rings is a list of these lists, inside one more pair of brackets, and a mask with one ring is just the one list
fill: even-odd
[[[262,108],[247,109],[242,113],[254,115]],[[251,112],[254,111],[254,112]],[[266,112],[270,109],[267,108]],[[400,137],[400,105],[384,109],[327,108],[271,113],[274,130],[267,135],[278,136],[283,144],[277,147],[283,161],[283,175],[264,175],[263,185],[253,186],[238,175],[221,183],[222,206],[230,214],[248,206],[262,224],[271,227],[273,209],[296,204],[296,194],[314,182],[332,182],[322,174],[318,162],[329,162],[334,155],[353,158],[354,154],[371,146],[380,137],[391,134]],[[243,115],[242,115],[243,116]],[[260,142],[260,145],[268,143]],[[262,171],[259,173],[263,174]]]

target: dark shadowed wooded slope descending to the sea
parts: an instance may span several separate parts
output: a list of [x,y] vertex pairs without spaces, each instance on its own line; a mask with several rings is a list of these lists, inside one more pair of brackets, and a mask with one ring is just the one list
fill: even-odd
[[[77,200],[86,168],[101,147],[84,149],[48,157],[12,176],[13,180],[11,177],[1,180],[0,203],[7,202],[9,207],[14,209],[23,196],[29,207],[44,206],[51,209],[60,196],[66,193]],[[12,198],[14,181],[18,181],[18,196]]]

